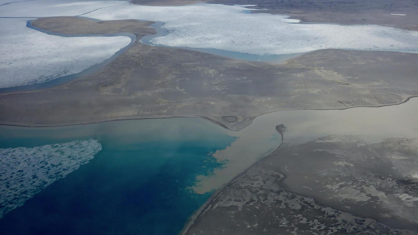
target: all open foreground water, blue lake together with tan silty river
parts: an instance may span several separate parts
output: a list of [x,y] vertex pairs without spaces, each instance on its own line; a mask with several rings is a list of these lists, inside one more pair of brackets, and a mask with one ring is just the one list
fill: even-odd
[[[12,234],[9,231],[15,231],[17,224],[26,234],[36,228],[56,232],[54,229],[69,223],[75,229],[69,234],[92,232],[82,222],[83,213],[88,212],[89,224],[112,220],[103,225],[111,226],[107,229],[117,226],[143,234],[177,234],[214,189],[282,144],[277,125],[285,127],[287,146],[330,135],[356,135],[367,143],[391,137],[418,138],[418,121],[413,115],[417,108],[418,98],[412,98],[376,108],[278,111],[255,118],[237,132],[209,120],[186,117],[48,128],[1,126],[2,149],[92,139],[102,150],[89,163],[7,213],[0,225],[5,234]],[[69,205],[73,205],[71,209]],[[123,222],[113,215],[134,218],[135,226],[133,220]],[[28,216],[31,220],[23,222]],[[92,234],[100,231],[97,228]]]

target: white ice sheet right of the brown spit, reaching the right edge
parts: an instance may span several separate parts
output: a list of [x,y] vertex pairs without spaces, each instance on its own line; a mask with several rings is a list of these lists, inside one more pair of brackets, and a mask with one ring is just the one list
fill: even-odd
[[294,54],[318,49],[418,51],[418,32],[396,28],[301,24],[285,15],[247,14],[242,5],[115,6],[84,16],[164,22],[168,35],[151,43],[247,54]]

